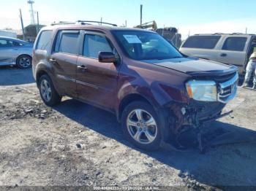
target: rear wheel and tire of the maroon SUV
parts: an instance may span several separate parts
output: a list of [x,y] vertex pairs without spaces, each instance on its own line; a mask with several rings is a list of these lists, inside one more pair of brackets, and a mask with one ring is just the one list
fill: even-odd
[[39,92],[42,101],[48,106],[55,106],[61,103],[61,96],[53,87],[53,82],[48,75],[42,75],[39,79]]

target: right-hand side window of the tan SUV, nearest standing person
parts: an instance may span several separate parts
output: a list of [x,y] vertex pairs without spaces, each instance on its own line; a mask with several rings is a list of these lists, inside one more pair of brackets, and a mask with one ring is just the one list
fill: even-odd
[[225,40],[222,50],[244,51],[246,37],[229,37]]

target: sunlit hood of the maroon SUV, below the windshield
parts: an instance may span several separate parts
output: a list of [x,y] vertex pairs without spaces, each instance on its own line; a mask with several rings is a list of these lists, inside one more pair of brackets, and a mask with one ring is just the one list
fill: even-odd
[[181,71],[186,74],[191,74],[192,76],[227,74],[236,71],[236,66],[197,58],[173,58],[167,60],[147,60],[143,62]]

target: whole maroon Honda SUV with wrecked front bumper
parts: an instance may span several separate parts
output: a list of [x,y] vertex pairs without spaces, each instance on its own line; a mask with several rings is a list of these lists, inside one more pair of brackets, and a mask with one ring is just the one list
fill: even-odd
[[[141,149],[226,114],[236,95],[235,66],[188,58],[153,32],[86,23],[42,28],[33,73],[48,106],[63,96],[116,114],[124,136]],[[182,145],[181,145],[182,147]]]

